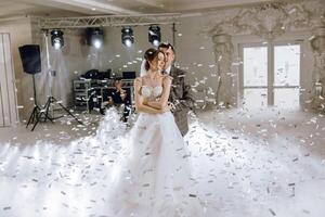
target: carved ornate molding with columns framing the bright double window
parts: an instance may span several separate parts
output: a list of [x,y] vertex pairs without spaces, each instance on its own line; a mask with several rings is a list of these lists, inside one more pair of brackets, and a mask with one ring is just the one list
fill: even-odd
[[[320,29],[325,29],[325,1],[277,1],[250,8],[218,10],[208,16],[209,22],[203,27],[203,33],[211,37],[213,42],[217,73],[220,76],[218,103],[222,101],[232,104],[232,99],[236,98],[236,93],[232,92],[235,89],[231,76],[232,36],[253,35],[272,41],[285,33],[309,31],[312,35],[314,29],[318,29],[320,33]],[[314,100],[318,102],[318,99],[325,99],[325,35],[315,33],[311,46],[315,62],[313,95],[316,95],[316,89],[321,88],[317,101]],[[323,106],[325,108],[325,103]]]

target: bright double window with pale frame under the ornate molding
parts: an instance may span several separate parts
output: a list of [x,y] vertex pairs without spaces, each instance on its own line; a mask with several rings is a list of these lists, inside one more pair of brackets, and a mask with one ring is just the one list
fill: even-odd
[[300,44],[250,44],[240,51],[244,107],[299,108]]

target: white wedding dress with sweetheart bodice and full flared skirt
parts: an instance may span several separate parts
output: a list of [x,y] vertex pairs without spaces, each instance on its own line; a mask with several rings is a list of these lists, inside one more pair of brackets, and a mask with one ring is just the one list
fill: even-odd
[[[162,87],[141,88],[150,100]],[[125,138],[125,137],[123,137]],[[110,205],[118,217],[199,217],[202,208],[190,154],[171,112],[139,113],[112,181]]]

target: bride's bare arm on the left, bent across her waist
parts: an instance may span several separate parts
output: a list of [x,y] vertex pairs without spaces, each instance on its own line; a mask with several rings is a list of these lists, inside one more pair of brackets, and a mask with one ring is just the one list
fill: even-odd
[[145,112],[145,113],[150,113],[150,114],[159,114],[159,113],[161,113],[162,110],[160,110],[160,108],[154,108],[154,107],[151,107],[151,106],[147,106],[147,105],[144,104],[144,99],[140,94],[141,87],[142,87],[141,78],[136,78],[134,80],[135,110],[139,111],[139,112]]

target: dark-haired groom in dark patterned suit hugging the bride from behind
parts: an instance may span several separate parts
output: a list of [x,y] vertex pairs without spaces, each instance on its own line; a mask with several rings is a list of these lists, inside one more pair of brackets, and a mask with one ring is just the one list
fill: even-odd
[[168,101],[174,105],[172,110],[174,120],[184,137],[188,131],[187,112],[194,107],[191,86],[185,84],[187,73],[173,65],[174,49],[170,43],[160,43],[158,49],[166,55],[164,72],[173,78]]

